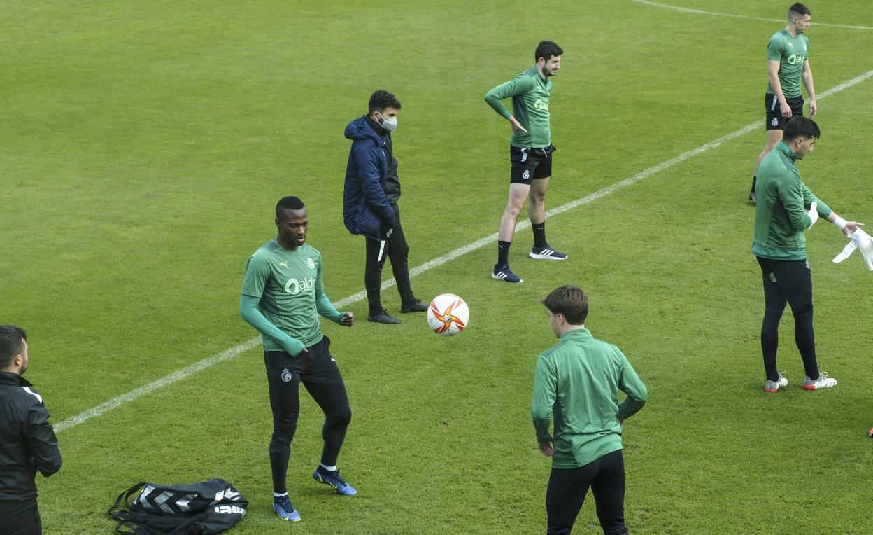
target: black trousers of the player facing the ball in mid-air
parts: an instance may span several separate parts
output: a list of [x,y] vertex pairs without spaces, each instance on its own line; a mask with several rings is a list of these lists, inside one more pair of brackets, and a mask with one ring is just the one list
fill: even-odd
[[300,414],[301,382],[325,414],[325,424],[321,428],[321,437],[324,439],[321,463],[335,466],[342,443],[346,440],[352,409],[348,406],[346,385],[342,381],[340,368],[333,360],[329,347],[330,339],[323,337],[319,343],[306,348],[308,353],[296,358],[285,351],[264,352],[273,416],[269,451],[274,492],[285,492],[290,444],[297,431]]

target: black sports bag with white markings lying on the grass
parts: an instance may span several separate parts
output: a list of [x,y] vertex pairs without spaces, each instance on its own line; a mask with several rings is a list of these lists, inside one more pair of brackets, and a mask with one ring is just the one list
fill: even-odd
[[122,492],[107,512],[118,533],[199,535],[229,530],[243,519],[248,504],[223,479],[182,485],[142,482]]

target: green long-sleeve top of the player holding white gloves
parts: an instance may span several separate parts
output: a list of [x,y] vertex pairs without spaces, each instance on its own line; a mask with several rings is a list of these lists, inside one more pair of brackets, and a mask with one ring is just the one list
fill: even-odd
[[818,203],[816,212],[822,218],[827,218],[832,212],[803,184],[794,160],[794,152],[783,141],[764,156],[758,168],[752,252],[761,258],[804,260],[807,258],[807,238],[803,231],[812,224],[807,215],[809,205],[813,201]]

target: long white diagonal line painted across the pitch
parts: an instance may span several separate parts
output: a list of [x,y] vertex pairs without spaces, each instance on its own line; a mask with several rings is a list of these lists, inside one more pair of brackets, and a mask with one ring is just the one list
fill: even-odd
[[[868,71],[867,73],[863,73],[862,75],[856,76],[852,80],[849,80],[845,83],[842,83],[839,86],[831,87],[830,89],[828,89],[828,91],[825,91],[824,93],[819,94],[818,98],[823,99],[823,98],[827,97],[828,95],[838,93],[838,92],[842,91],[843,89],[848,89],[849,87],[852,87],[852,86],[856,85],[857,83],[862,82],[863,80],[867,80],[871,76],[873,76],[873,71]],[[576,200],[571,201],[567,204],[552,208],[551,210],[546,212],[546,216],[558,215],[559,213],[567,212],[567,210],[573,210],[574,208],[576,208],[578,206],[588,205],[589,203],[594,202],[598,198],[606,197],[610,193],[615,193],[615,191],[619,191],[619,190],[622,190],[623,188],[628,187],[629,185],[636,184],[637,182],[639,182],[645,178],[651,177],[652,175],[654,175],[662,170],[673,167],[674,165],[677,165],[678,163],[683,163],[685,160],[687,160],[693,156],[698,156],[699,154],[702,154],[709,149],[714,149],[714,148],[718,147],[718,145],[721,145],[724,142],[728,142],[735,137],[739,137],[740,135],[747,134],[754,129],[758,129],[758,128],[760,128],[761,125],[762,125],[761,121],[756,121],[756,122],[753,122],[751,124],[747,124],[745,127],[741,128],[739,130],[736,130],[728,135],[723,135],[715,141],[704,143],[703,145],[700,145],[697,149],[691,149],[687,152],[683,152],[679,156],[670,158],[669,160],[666,160],[662,163],[658,163],[657,165],[654,165],[647,170],[640,171],[640,172],[636,173],[636,175],[634,175],[633,177],[625,178],[624,180],[622,180],[620,182],[616,182],[615,184],[609,185],[600,191],[595,191],[594,193],[591,193],[590,195],[587,195],[583,198],[577,198]],[[526,219],[526,220],[522,221],[521,223],[519,223],[517,226],[515,226],[515,230],[516,231],[523,230],[523,229],[526,229],[528,226],[531,226],[531,222],[530,222],[530,220]],[[465,245],[464,247],[458,247],[454,251],[451,251],[449,254],[444,254],[443,256],[440,256],[439,258],[435,258],[432,261],[424,262],[421,266],[418,266],[417,268],[410,269],[409,276],[414,277],[417,274],[423,274],[426,271],[430,271],[430,269],[438,268],[449,261],[455,260],[459,256],[463,256],[464,254],[471,253],[472,251],[475,251],[476,249],[478,249],[480,247],[485,247],[486,245],[493,243],[495,240],[497,240],[497,233],[493,233],[490,236],[485,236],[485,238],[482,238],[480,240],[476,240],[470,244]],[[382,289],[391,288],[395,284],[396,284],[396,281],[394,279],[388,279],[388,281],[382,282]],[[347,297],[344,297],[343,299],[340,299],[340,301],[334,303],[334,306],[336,306],[337,309],[343,309],[347,305],[352,304],[353,302],[361,301],[366,296],[367,296],[366,292],[358,292],[357,294],[349,295]],[[260,343],[261,343],[261,337],[251,338],[250,340],[244,342],[243,344],[239,344],[237,346],[231,347],[230,349],[227,349],[227,350],[224,350],[220,353],[217,353],[216,355],[213,355],[212,357],[204,358],[203,360],[200,360],[192,365],[188,365],[188,366],[182,368],[181,370],[177,370],[175,372],[172,372],[169,375],[162,377],[161,379],[157,379],[154,382],[149,383],[146,386],[141,386],[141,387],[139,387],[135,390],[132,390],[128,393],[123,393],[119,396],[116,396],[112,400],[108,400],[105,403],[101,403],[98,406],[94,406],[94,407],[86,410],[85,412],[76,414],[75,416],[72,416],[71,418],[67,418],[66,420],[58,423],[58,425],[56,425],[54,427],[55,432],[60,433],[61,431],[64,431],[65,429],[68,429],[70,427],[78,426],[83,421],[90,420],[95,416],[100,416],[101,414],[107,413],[117,406],[127,405],[127,403],[130,403],[131,401],[136,400],[137,398],[141,398],[142,396],[144,396],[148,393],[155,392],[155,390],[157,390],[159,388],[163,388],[164,386],[172,385],[176,381],[186,379],[189,376],[194,375],[196,372],[200,372],[201,370],[209,368],[212,365],[217,365],[218,363],[223,362],[225,360],[228,360],[229,358],[234,358],[244,351],[249,351],[249,350],[257,347],[258,344],[260,344]]]

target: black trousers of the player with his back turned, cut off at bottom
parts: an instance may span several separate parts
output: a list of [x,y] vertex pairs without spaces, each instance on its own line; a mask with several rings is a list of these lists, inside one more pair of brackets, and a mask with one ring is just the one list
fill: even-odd
[[577,469],[552,469],[546,490],[548,535],[569,535],[591,488],[607,535],[625,535],[624,458],[619,449]]

